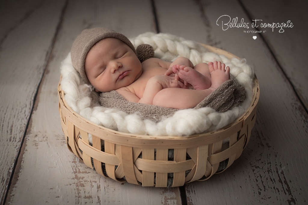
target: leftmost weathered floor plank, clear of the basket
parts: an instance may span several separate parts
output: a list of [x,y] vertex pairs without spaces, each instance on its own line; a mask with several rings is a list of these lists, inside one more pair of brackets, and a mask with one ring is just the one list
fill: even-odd
[[10,183],[64,2],[19,3],[0,2],[0,203]]

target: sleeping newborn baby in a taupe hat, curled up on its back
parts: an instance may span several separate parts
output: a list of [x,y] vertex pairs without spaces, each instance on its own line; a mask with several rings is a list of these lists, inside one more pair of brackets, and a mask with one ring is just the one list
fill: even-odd
[[230,79],[221,62],[173,62],[148,58],[143,62],[123,34],[107,28],[83,30],[71,49],[74,68],[97,92],[115,90],[130,102],[166,108],[193,108]]

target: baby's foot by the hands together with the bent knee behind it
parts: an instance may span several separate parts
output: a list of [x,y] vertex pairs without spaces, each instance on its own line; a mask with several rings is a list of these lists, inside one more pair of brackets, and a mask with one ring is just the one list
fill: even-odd
[[172,71],[191,84],[195,90],[204,90],[211,86],[211,74],[206,63],[199,63],[194,68],[174,65]]

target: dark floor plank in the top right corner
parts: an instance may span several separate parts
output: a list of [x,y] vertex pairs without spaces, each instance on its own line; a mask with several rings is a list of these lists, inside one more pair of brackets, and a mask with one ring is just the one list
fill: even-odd
[[[259,30],[265,31],[262,37],[274,53],[282,70],[292,85],[306,110],[308,108],[308,60],[306,34],[307,1],[243,1],[245,9],[252,19],[262,20]],[[266,5],[266,6],[265,6]],[[296,15],[294,15],[296,14]],[[292,23],[292,27],[261,28],[263,23]]]

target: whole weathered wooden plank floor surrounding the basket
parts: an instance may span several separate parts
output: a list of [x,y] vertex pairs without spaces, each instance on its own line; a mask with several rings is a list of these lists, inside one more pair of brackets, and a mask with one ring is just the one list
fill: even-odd
[[[0,204],[306,204],[306,8],[299,0],[1,1]],[[222,30],[222,15],[243,18],[249,29]],[[294,26],[251,28],[254,19]],[[70,153],[58,113],[59,67],[75,37],[98,26],[128,37],[170,33],[246,58],[261,97],[240,158],[207,181],[167,189],[105,179]],[[255,30],[262,33],[244,33]]]

